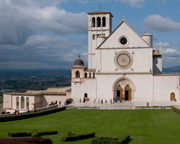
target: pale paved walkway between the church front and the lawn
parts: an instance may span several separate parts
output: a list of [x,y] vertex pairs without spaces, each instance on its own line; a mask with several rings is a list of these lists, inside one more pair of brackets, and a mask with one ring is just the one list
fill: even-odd
[[[177,102],[149,102],[149,106],[177,106]],[[74,102],[69,104],[68,107],[79,108],[79,109],[135,109],[138,106],[147,106],[147,102],[117,102],[117,103],[93,103],[85,102],[79,103]]]

